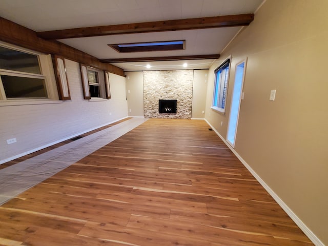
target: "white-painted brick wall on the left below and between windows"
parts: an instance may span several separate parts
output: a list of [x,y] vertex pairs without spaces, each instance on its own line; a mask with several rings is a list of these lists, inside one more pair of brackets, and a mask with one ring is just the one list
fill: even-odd
[[[111,99],[83,98],[79,64],[65,59],[71,100],[0,106],[0,163],[128,116],[125,77],[110,74]],[[7,139],[17,142],[7,145]]]

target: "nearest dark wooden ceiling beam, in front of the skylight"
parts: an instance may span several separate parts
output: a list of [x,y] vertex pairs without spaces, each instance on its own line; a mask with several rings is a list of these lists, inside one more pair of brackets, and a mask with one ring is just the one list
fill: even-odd
[[224,15],[190,19],[164,20],[159,22],[144,22],[111,26],[97,26],[38,32],[45,39],[65,39],[75,37],[92,37],[115,34],[164,32],[202,28],[248,26],[254,19],[254,14]]

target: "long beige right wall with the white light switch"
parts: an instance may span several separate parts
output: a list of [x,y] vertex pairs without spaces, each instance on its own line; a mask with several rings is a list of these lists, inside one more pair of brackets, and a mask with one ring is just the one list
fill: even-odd
[[226,115],[210,110],[220,61],[211,67],[206,119],[226,138],[235,65],[248,57],[235,150],[328,245],[327,10],[326,0],[266,1],[221,54],[232,55]]

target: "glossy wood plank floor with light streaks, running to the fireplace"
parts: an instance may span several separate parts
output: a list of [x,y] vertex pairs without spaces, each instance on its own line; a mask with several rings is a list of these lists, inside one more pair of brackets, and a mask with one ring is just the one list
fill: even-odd
[[0,245],[313,245],[202,120],[150,119],[0,221]]

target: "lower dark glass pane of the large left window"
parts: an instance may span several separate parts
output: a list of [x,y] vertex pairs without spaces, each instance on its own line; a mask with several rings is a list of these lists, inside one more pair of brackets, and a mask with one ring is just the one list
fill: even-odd
[[7,98],[47,97],[45,79],[1,75]]

